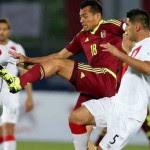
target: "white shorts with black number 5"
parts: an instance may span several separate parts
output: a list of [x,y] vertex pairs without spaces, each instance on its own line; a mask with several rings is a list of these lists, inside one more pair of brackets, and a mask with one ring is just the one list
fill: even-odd
[[122,149],[143,124],[142,121],[127,117],[113,97],[90,100],[83,105],[94,116],[96,126],[107,127],[107,133],[100,142],[103,150]]

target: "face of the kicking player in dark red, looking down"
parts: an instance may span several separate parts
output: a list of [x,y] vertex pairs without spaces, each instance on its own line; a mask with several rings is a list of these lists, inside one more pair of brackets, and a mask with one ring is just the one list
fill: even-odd
[[93,13],[90,6],[80,9],[80,22],[84,31],[93,30],[100,20],[100,13]]

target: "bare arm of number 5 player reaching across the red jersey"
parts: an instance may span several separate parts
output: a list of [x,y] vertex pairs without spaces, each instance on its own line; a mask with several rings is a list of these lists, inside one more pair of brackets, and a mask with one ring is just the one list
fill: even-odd
[[110,43],[102,44],[101,46],[105,48],[106,51],[109,51],[114,56],[116,56],[117,58],[119,58],[132,68],[138,70],[141,73],[150,75],[150,61],[141,61],[133,57],[130,57],[124,54],[123,52],[119,51],[115,46],[111,45]]

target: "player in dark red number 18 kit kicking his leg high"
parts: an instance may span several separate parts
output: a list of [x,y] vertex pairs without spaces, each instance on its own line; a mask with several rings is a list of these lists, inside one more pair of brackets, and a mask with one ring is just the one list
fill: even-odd
[[[80,22],[83,29],[60,52],[40,58],[20,57],[21,62],[39,63],[20,77],[19,82],[22,87],[25,87],[28,82],[41,79],[44,74],[45,77],[53,74],[63,76],[70,80],[80,92],[74,109],[89,99],[114,95],[117,91],[117,75],[122,66],[121,61],[103,52],[99,45],[110,42],[120,48],[124,32],[123,23],[118,20],[103,20],[101,4],[96,0],[81,2]],[[81,51],[87,57],[88,65],[65,59]],[[19,90],[22,87],[19,87]],[[81,141],[80,135],[86,136],[86,128],[73,123],[69,125],[75,147],[78,149]]]

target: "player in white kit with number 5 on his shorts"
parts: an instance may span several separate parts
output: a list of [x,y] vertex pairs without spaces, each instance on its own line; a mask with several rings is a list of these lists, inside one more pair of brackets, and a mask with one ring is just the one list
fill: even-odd
[[[70,121],[79,125],[95,124],[107,127],[107,133],[98,150],[120,150],[129,138],[142,126],[150,97],[150,17],[139,9],[127,12],[129,39],[135,42],[129,56],[120,52],[110,43],[102,44],[103,51],[113,54],[128,66],[123,69],[123,77],[118,93],[113,97],[90,100],[76,109]],[[82,137],[86,139],[85,137]],[[87,149],[87,141],[82,143]]]

